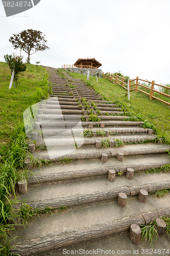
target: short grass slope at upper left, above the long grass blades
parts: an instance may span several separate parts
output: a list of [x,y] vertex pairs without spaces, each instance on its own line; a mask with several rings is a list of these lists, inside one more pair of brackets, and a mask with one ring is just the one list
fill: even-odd
[[0,62],[0,144],[8,142],[28,106],[47,96],[47,78],[45,68],[28,64],[27,70],[19,76],[17,88],[12,86],[9,90],[10,69],[7,63]]

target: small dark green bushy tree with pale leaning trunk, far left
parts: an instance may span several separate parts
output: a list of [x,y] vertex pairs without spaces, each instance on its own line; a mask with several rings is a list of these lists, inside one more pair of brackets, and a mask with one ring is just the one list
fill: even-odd
[[22,62],[22,56],[17,56],[13,53],[13,55],[5,55],[4,56],[5,61],[8,63],[8,66],[11,70],[11,75],[12,72],[14,70],[14,88],[15,88],[15,84],[17,84],[18,78],[19,78],[19,74],[23,71],[26,71],[27,66],[25,63]]

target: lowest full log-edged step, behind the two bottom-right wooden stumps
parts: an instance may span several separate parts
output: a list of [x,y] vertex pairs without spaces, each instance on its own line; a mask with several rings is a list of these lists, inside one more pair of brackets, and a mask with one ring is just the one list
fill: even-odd
[[[117,201],[78,209],[54,212],[30,220],[9,232],[12,253],[29,256],[43,255],[67,245],[85,242],[130,229],[131,224],[149,224],[159,216],[169,216],[170,196],[161,199],[149,195],[146,203],[137,196],[127,198],[124,208]],[[13,239],[15,238],[15,239]]]

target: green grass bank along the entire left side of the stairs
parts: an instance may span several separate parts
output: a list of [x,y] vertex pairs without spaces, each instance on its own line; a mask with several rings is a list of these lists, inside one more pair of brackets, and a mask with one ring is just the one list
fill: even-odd
[[[14,229],[10,221],[18,217],[12,206],[18,202],[15,194],[17,182],[29,178],[31,172],[23,165],[29,154],[26,143],[23,112],[48,96],[48,73],[41,66],[28,64],[19,77],[19,84],[10,90],[10,69],[0,62],[0,254],[10,255],[8,230]],[[42,164],[36,162],[35,164]],[[12,198],[12,199],[11,199]],[[6,241],[6,242],[5,242]]]

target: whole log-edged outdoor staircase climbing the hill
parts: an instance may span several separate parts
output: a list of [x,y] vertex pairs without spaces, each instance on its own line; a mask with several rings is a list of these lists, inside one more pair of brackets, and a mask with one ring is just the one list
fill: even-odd
[[[28,181],[28,191],[19,199],[33,208],[56,210],[53,215],[30,220],[26,228],[18,226],[10,231],[10,239],[18,236],[11,241],[12,252],[50,255],[63,246],[126,231],[133,223],[143,225],[155,216],[169,216],[169,195],[156,199],[149,194],[147,202],[141,203],[138,194],[141,188],[149,193],[170,187],[169,173],[143,172],[170,163],[165,152],[170,146],[153,143],[156,135],[144,129],[142,122],[123,121],[126,116],[122,108],[102,100],[81,79],[67,73],[62,78],[55,69],[47,69],[53,94],[40,104],[36,121],[37,130],[41,131],[36,144],[45,150],[38,150],[33,156],[52,164],[31,170],[34,175]],[[100,121],[89,121],[82,98],[95,103],[96,110],[91,104],[89,111],[97,112]],[[92,131],[92,137],[84,138],[82,134],[87,129]],[[100,132],[103,137],[97,136]],[[102,139],[108,138],[110,147],[101,147]],[[120,140],[125,144],[115,147]],[[144,140],[151,142],[141,143]],[[123,161],[117,160],[119,153],[123,153]],[[105,161],[101,161],[103,155]],[[127,168],[135,171],[132,180],[126,178]],[[110,169],[116,172],[113,182],[108,180]],[[120,192],[128,197],[124,208],[117,204]]]

